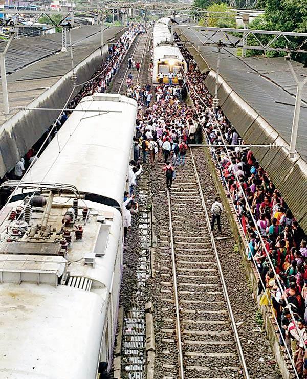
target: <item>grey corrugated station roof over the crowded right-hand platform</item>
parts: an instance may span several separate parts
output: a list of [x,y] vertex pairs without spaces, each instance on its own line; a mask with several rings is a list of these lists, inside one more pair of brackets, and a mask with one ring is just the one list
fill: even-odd
[[[195,34],[204,41],[204,36],[190,30],[186,30],[181,38],[193,42],[188,49],[200,70],[210,71],[205,83],[213,94],[217,48],[201,46]],[[223,38],[215,34],[213,40]],[[297,62],[293,65],[302,80],[307,69]],[[298,153],[290,159],[287,148],[290,145],[296,85],[287,62],[282,58],[246,58],[243,61],[235,56],[235,50],[227,47],[221,51],[220,76],[220,104],[245,142],[285,146],[252,148],[252,151],[307,232],[307,105],[303,102],[301,107],[296,145]],[[303,100],[307,101],[307,86]]]

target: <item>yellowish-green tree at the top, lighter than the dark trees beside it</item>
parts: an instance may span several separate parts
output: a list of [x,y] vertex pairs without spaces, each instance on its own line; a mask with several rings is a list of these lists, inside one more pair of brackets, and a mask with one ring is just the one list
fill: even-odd
[[199,22],[200,25],[208,25],[214,28],[234,28],[235,27],[235,13],[231,12],[227,3],[213,3],[207,8],[208,12],[224,12],[209,13],[209,16],[202,18]]

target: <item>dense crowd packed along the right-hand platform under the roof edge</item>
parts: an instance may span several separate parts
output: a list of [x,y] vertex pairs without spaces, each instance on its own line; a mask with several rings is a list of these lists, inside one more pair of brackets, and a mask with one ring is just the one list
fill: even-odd
[[203,125],[206,141],[220,168],[225,188],[248,242],[248,259],[259,273],[258,296],[269,305],[280,330],[280,344],[293,356],[300,378],[307,377],[307,248],[306,236],[275,188],[268,173],[249,149],[240,145],[237,131],[213,99],[190,54],[187,86]]

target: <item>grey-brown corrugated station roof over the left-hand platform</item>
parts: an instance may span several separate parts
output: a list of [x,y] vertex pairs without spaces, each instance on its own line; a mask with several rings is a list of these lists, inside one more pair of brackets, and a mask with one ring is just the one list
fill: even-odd
[[[77,66],[84,59],[90,56],[100,46],[100,30],[101,27],[94,25],[82,27],[72,30],[72,43],[74,53],[74,65]],[[122,27],[111,27],[104,30],[104,40],[111,42],[123,31]],[[49,37],[52,37],[50,40]],[[38,43],[35,49],[35,41]],[[26,43],[25,43],[26,41]],[[23,48],[18,57],[19,43],[23,43]],[[39,53],[40,43],[45,43],[45,50]],[[17,70],[11,75],[8,75],[8,92],[10,115],[13,116],[18,112],[14,107],[26,106],[31,101],[48,90],[55,84],[63,75],[71,71],[70,51],[61,52],[61,33],[44,35],[33,38],[22,38],[12,42],[14,51],[10,55],[10,46],[7,58],[7,69]],[[0,43],[0,49],[2,44]],[[35,54],[32,54],[32,48],[35,49]],[[15,56],[16,50],[16,56]],[[26,54],[28,51],[28,55]],[[23,59],[23,52],[27,55],[27,61]],[[40,54],[39,56],[37,54]],[[38,58],[39,57],[39,58]],[[37,58],[39,60],[37,60]],[[23,65],[23,68],[20,68]],[[94,72],[92,72],[93,74]],[[0,125],[5,122],[4,106],[2,100],[2,88],[0,92]]]

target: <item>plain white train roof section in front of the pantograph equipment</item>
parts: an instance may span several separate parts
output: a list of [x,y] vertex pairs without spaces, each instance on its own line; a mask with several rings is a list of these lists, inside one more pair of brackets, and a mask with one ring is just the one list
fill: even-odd
[[106,309],[95,293],[2,284],[0,294],[1,378],[96,377]]

